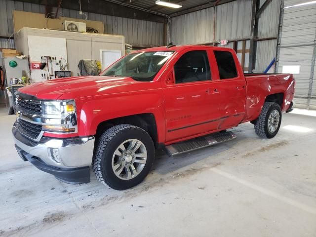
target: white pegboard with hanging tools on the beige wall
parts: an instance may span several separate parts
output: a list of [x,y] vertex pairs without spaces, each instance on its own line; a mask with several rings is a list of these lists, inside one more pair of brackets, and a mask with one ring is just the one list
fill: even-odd
[[55,71],[68,71],[66,39],[28,36],[28,42],[32,82],[55,79]]

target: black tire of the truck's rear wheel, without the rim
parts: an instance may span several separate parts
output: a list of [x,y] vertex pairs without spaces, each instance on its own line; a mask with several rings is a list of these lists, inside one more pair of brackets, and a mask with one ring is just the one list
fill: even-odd
[[[277,110],[279,113],[279,122],[278,126],[276,128],[275,132],[270,132],[268,129],[268,120],[270,114],[274,111]],[[281,120],[282,120],[282,113],[281,113],[281,108],[278,104],[273,103],[273,102],[265,102],[261,111],[261,114],[259,117],[256,119],[255,125],[255,132],[259,137],[262,138],[273,138],[276,136],[280,125],[281,125]]]

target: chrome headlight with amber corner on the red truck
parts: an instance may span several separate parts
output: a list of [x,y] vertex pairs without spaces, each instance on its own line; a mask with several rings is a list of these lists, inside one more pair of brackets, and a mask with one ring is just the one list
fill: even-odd
[[42,102],[42,129],[49,132],[77,132],[74,100]]

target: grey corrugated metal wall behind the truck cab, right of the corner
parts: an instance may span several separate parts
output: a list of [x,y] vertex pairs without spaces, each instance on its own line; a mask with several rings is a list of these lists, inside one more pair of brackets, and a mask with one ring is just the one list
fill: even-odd
[[[265,0],[260,0],[260,6]],[[219,40],[249,39],[252,0],[237,0],[216,8],[216,36]],[[272,0],[258,20],[258,38],[277,37],[280,0]],[[213,7],[173,17],[171,41],[175,44],[213,42]],[[257,42],[255,71],[263,72],[276,55],[276,40]]]

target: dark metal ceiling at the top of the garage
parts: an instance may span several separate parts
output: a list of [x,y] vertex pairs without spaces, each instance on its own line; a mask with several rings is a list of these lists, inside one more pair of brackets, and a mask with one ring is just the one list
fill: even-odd
[[[79,0],[14,0],[79,10]],[[80,0],[82,11],[126,17],[155,22],[166,22],[167,18],[221,5],[235,0],[165,0],[181,4],[181,8],[170,8],[156,4],[156,0]]]

